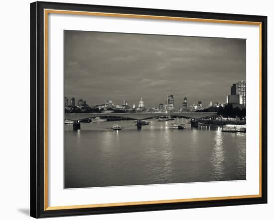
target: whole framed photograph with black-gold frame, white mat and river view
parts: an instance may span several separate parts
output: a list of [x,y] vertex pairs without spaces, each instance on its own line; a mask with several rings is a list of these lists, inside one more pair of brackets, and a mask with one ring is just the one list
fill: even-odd
[[266,16],[33,2],[30,75],[32,217],[267,203]]

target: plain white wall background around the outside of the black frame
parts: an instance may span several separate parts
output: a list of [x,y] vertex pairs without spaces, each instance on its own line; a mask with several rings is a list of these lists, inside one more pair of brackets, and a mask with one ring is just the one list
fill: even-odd
[[[273,81],[274,6],[268,0],[61,0],[62,2],[148,7],[268,16],[269,72],[269,204],[218,207],[62,219],[139,220],[139,219],[273,219],[274,154],[270,110]],[[29,219],[29,3],[30,0],[1,2],[0,12],[0,219]],[[272,107],[272,108],[271,108]],[[272,122],[272,123],[271,123]]]

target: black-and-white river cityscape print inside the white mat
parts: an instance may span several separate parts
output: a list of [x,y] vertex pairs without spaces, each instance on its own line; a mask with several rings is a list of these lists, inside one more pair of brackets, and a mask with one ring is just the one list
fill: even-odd
[[246,40],[64,30],[64,188],[246,180]]

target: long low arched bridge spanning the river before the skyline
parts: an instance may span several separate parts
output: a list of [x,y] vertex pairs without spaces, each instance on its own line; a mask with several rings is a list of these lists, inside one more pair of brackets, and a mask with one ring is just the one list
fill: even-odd
[[64,119],[73,121],[73,129],[80,129],[80,123],[82,120],[95,117],[121,117],[121,118],[130,118],[137,120],[137,128],[141,127],[141,120],[157,118],[162,116],[176,116],[191,118],[193,121],[197,119],[215,116],[217,112],[161,112],[161,113],[72,113],[65,114]]

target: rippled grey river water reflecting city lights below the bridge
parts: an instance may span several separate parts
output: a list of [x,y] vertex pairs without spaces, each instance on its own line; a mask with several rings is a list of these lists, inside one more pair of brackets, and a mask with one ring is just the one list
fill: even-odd
[[[149,121],[141,130],[133,120],[65,125],[65,188],[246,179],[245,133]],[[187,128],[169,129],[174,122]],[[112,130],[116,123],[123,129]]]

